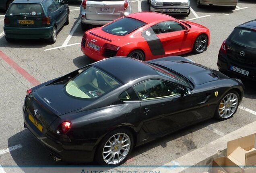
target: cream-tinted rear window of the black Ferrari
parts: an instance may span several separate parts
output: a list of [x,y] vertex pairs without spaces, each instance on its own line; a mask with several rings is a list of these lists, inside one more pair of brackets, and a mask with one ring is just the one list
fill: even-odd
[[91,66],[68,82],[66,92],[74,97],[95,99],[120,85],[113,77]]

